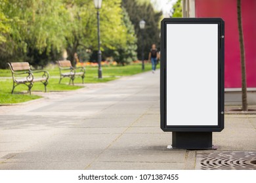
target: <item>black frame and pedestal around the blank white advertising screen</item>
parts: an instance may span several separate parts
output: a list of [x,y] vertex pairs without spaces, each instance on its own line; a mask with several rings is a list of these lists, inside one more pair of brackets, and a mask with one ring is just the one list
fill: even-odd
[[[167,125],[167,24],[218,24],[218,122],[217,125]],[[173,144],[179,144],[181,148],[197,148],[198,146],[188,145],[181,142],[184,132],[188,139],[195,134],[198,137],[206,137],[212,141],[212,132],[222,131],[224,129],[224,21],[221,18],[164,18],[161,21],[161,66],[160,66],[160,114],[161,129],[163,131],[173,131]],[[200,109],[199,109],[200,110]],[[200,114],[199,114],[200,115]],[[198,133],[196,133],[198,132]],[[191,135],[189,135],[189,133]],[[202,135],[203,134],[203,135]],[[186,138],[185,138],[186,139]],[[186,140],[188,140],[186,139]],[[183,141],[182,140],[182,141]],[[193,140],[192,140],[193,141]],[[207,148],[211,148],[206,143]],[[193,141],[192,143],[195,143]],[[203,145],[199,145],[203,147]]]

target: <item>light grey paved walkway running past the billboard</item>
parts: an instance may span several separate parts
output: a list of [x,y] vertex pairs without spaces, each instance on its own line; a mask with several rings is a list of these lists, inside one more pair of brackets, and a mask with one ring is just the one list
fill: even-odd
[[[169,150],[159,71],[0,107],[0,169],[195,169],[197,151]],[[225,115],[218,151],[256,151],[256,115]]]

